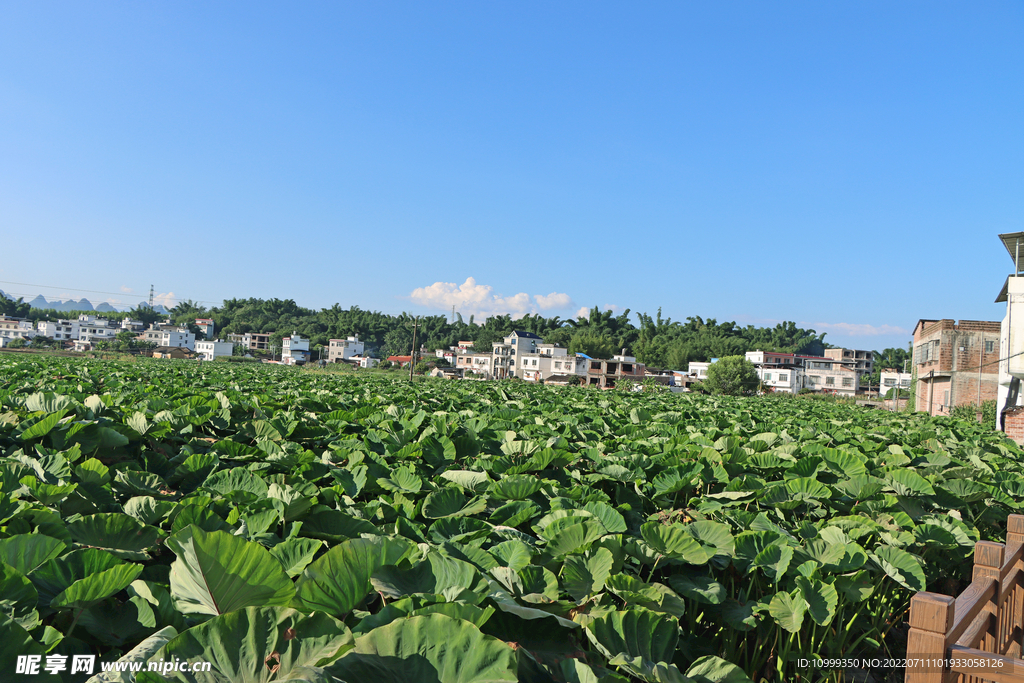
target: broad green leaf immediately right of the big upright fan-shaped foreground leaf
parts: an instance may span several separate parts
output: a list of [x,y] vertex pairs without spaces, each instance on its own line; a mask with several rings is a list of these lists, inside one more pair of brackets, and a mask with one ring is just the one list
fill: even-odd
[[305,568],[296,584],[294,605],[336,616],[350,612],[373,590],[370,578],[382,566],[397,564],[416,551],[404,539],[351,539],[329,550]]

